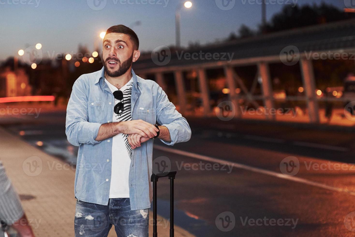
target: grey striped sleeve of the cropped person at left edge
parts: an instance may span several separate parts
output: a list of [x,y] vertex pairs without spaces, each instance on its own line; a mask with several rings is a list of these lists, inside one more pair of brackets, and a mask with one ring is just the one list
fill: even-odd
[[23,216],[20,198],[6,176],[5,169],[0,161],[0,220],[12,225]]

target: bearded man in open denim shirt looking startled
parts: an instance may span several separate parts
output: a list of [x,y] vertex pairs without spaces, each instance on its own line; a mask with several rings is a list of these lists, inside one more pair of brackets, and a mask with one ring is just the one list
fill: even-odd
[[[186,142],[191,129],[157,83],[132,70],[139,40],[110,27],[102,70],[80,76],[66,116],[69,142],[79,146],[75,175],[76,236],[148,236],[153,139]],[[160,125],[154,125],[159,123]]]

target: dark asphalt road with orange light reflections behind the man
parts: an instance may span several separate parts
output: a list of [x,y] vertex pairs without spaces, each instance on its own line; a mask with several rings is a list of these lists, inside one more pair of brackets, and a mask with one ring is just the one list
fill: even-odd
[[[154,142],[154,161],[165,159],[169,169],[178,170],[176,225],[196,236],[355,235],[353,133],[188,121],[189,142],[172,147]],[[42,112],[35,120],[2,126],[75,162],[76,148],[66,142],[64,122],[65,112]],[[168,180],[159,180],[158,196],[158,213],[168,217]]]

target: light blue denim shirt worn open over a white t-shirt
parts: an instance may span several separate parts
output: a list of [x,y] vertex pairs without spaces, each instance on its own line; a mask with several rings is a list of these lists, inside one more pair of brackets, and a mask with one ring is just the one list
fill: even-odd
[[[174,145],[191,137],[189,123],[162,90],[132,70],[132,120],[159,123],[169,129]],[[104,67],[80,76],[73,85],[66,114],[68,141],[79,147],[75,173],[75,197],[89,203],[108,205],[111,178],[112,138],[96,141],[99,127],[112,122],[115,98],[104,80]],[[150,208],[152,202],[153,139],[132,150],[129,172],[131,210]]]

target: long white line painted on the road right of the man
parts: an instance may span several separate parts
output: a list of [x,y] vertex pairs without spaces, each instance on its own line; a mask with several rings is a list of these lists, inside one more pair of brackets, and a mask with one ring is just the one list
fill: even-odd
[[248,171],[252,171],[252,172],[256,172],[256,173],[262,173],[264,175],[282,178],[284,180],[290,180],[290,181],[294,181],[297,183],[303,183],[303,184],[307,184],[307,185],[318,187],[318,188],[328,189],[331,191],[344,192],[344,193],[348,193],[350,195],[355,196],[355,192],[349,191],[348,189],[337,188],[337,187],[329,186],[324,183],[318,183],[318,182],[306,180],[304,178],[299,178],[299,177],[295,177],[295,176],[288,176],[288,175],[284,175],[283,173],[279,173],[279,172],[275,172],[275,171],[271,171],[271,170],[265,170],[265,169],[261,169],[261,168],[257,168],[257,167],[253,167],[253,166],[249,166],[249,165],[231,162],[228,160],[217,159],[217,158],[214,158],[211,156],[200,155],[200,154],[192,153],[189,151],[182,151],[182,150],[178,150],[178,149],[174,149],[174,148],[170,148],[170,147],[165,147],[162,145],[154,145],[153,148],[155,148],[157,150],[161,150],[161,151],[166,151],[166,152],[178,154],[178,155],[188,156],[188,157],[195,158],[195,159],[206,160],[206,161],[215,162],[215,163],[219,163],[219,164],[229,164],[229,165],[232,165],[233,167],[237,167],[239,169],[248,170]]

